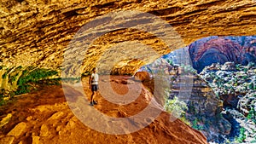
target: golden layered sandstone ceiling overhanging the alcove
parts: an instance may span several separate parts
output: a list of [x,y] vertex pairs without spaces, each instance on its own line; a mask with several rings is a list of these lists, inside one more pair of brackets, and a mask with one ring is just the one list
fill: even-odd
[[[107,67],[108,61],[117,60],[113,71],[132,73],[160,55],[201,37],[256,34],[255,0],[2,0],[0,6],[0,62],[5,66],[61,67],[65,50],[77,46],[78,43],[71,43],[71,40],[82,26],[120,10],[138,10],[159,16],[174,28],[184,44],[173,36],[172,41],[177,45],[170,48],[169,43],[152,33],[118,29],[104,33],[90,43],[86,53],[81,53],[85,54],[84,60],[79,61],[84,71],[90,71],[99,63]],[[140,21],[147,19],[135,17]],[[122,24],[125,21],[119,20],[116,25]],[[124,48],[122,43],[128,47]],[[148,47],[157,55],[148,52]],[[115,50],[118,48],[123,49]],[[143,56],[137,59],[135,55]],[[75,55],[68,57],[73,58]],[[67,70],[75,68],[71,66]]]

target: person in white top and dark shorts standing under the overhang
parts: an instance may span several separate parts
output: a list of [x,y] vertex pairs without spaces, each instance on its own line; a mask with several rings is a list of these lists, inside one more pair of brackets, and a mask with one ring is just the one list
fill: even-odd
[[98,80],[99,80],[99,75],[97,74],[98,69],[94,68],[93,69],[93,73],[91,74],[90,78],[89,78],[89,85],[90,85],[90,89],[92,92],[92,95],[90,96],[90,106],[96,105],[96,92],[99,89],[98,86]]

